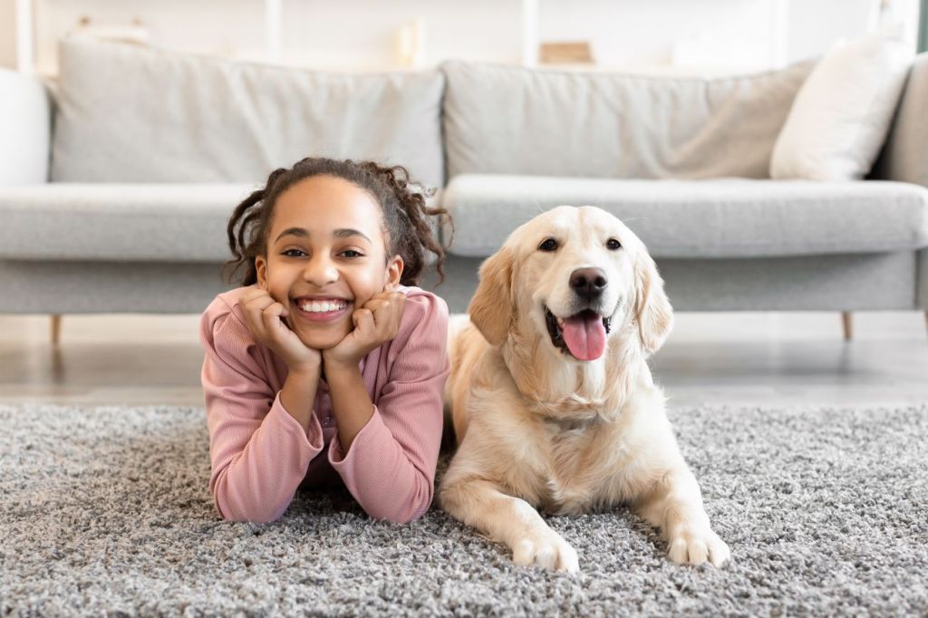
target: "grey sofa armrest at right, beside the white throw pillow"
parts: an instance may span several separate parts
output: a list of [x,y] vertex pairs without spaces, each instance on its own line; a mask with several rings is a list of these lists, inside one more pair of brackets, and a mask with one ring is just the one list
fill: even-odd
[[928,187],[928,53],[912,63],[883,153],[872,178]]

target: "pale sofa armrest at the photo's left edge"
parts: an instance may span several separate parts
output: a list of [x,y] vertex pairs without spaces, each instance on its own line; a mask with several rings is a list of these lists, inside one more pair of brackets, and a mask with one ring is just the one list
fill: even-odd
[[0,69],[0,187],[48,181],[52,102],[35,75]]

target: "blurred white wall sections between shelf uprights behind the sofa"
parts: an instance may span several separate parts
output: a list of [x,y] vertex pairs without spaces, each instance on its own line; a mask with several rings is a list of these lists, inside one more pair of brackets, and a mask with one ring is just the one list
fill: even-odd
[[[445,58],[518,62],[522,0],[281,0],[285,60],[327,69],[396,66],[396,32],[425,24],[423,63]],[[151,42],[234,58],[266,58],[265,0],[33,0],[37,62],[56,69],[55,41],[88,16],[139,18]],[[673,61],[728,71],[763,68],[777,45],[771,7],[786,8],[783,60],[824,52],[866,32],[879,0],[538,0],[541,41],[590,42],[599,66],[658,71]],[[914,6],[918,0],[894,0]],[[0,66],[15,66],[15,0],[0,0]],[[675,50],[677,57],[675,58]]]

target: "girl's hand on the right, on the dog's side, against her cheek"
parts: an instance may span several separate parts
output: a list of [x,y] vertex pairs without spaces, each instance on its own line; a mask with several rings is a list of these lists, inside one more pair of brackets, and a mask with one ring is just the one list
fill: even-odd
[[335,347],[322,351],[323,365],[336,370],[357,367],[368,352],[396,336],[405,306],[406,294],[401,291],[390,289],[371,296],[352,314],[354,330]]

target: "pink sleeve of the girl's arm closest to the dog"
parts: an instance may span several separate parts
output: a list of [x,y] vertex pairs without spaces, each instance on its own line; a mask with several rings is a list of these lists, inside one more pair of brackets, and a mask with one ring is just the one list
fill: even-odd
[[432,503],[448,377],[448,309],[432,294],[407,299],[390,344],[389,381],[374,416],[342,455],[338,434],[329,462],[354,499],[375,519],[405,523]]

